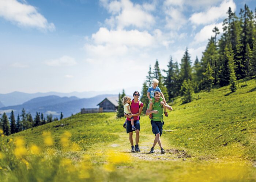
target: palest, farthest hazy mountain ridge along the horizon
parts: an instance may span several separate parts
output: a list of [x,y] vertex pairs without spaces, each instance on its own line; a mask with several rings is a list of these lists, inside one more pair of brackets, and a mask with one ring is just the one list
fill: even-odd
[[[138,87],[129,87],[125,89],[125,94],[132,95],[135,90],[140,92],[141,88]],[[104,95],[104,94],[116,94],[118,95],[121,93],[122,90],[112,90],[112,91],[87,91],[87,92],[70,92],[70,93],[60,93],[60,92],[46,92],[46,93],[35,93],[35,94],[27,94],[23,92],[11,92],[9,94],[0,94],[0,107],[4,106],[15,106],[23,104],[31,99],[56,95],[59,97],[71,97],[75,96],[78,98],[92,98],[97,95]],[[1,104],[2,103],[2,104]]]

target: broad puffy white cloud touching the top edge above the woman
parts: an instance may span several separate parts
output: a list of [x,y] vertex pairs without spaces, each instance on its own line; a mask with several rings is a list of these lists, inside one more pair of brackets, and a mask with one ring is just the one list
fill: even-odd
[[109,19],[105,20],[110,27],[117,27],[117,29],[129,26],[143,28],[155,23],[154,16],[147,12],[154,10],[154,4],[139,5],[133,4],[130,0],[110,2],[101,0],[101,3],[112,14]]

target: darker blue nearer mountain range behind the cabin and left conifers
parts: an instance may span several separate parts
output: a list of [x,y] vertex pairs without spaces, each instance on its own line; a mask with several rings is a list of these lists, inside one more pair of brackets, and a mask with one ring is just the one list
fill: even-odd
[[81,108],[97,108],[97,104],[103,99],[109,96],[118,95],[97,95],[92,98],[80,99],[76,96],[60,97],[56,95],[44,96],[31,99],[23,104],[16,106],[1,107],[0,113],[5,112],[10,114],[11,110],[14,111],[15,116],[21,113],[22,108],[26,110],[26,113],[30,112],[34,117],[36,112],[43,113],[44,115],[52,114],[53,117],[60,116],[60,112],[63,113],[64,118],[76,114],[81,111]]

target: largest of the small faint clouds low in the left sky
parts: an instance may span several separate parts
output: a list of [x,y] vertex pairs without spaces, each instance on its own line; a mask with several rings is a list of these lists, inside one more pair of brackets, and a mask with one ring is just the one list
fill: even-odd
[[74,58],[71,58],[69,56],[62,56],[59,59],[51,59],[45,61],[45,64],[47,64],[48,66],[74,66],[76,64],[76,61]]

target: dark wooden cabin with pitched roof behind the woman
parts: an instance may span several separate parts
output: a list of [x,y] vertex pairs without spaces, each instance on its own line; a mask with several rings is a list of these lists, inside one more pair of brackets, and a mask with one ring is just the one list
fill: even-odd
[[103,112],[115,112],[118,107],[118,96],[106,97],[97,106],[102,107]]

